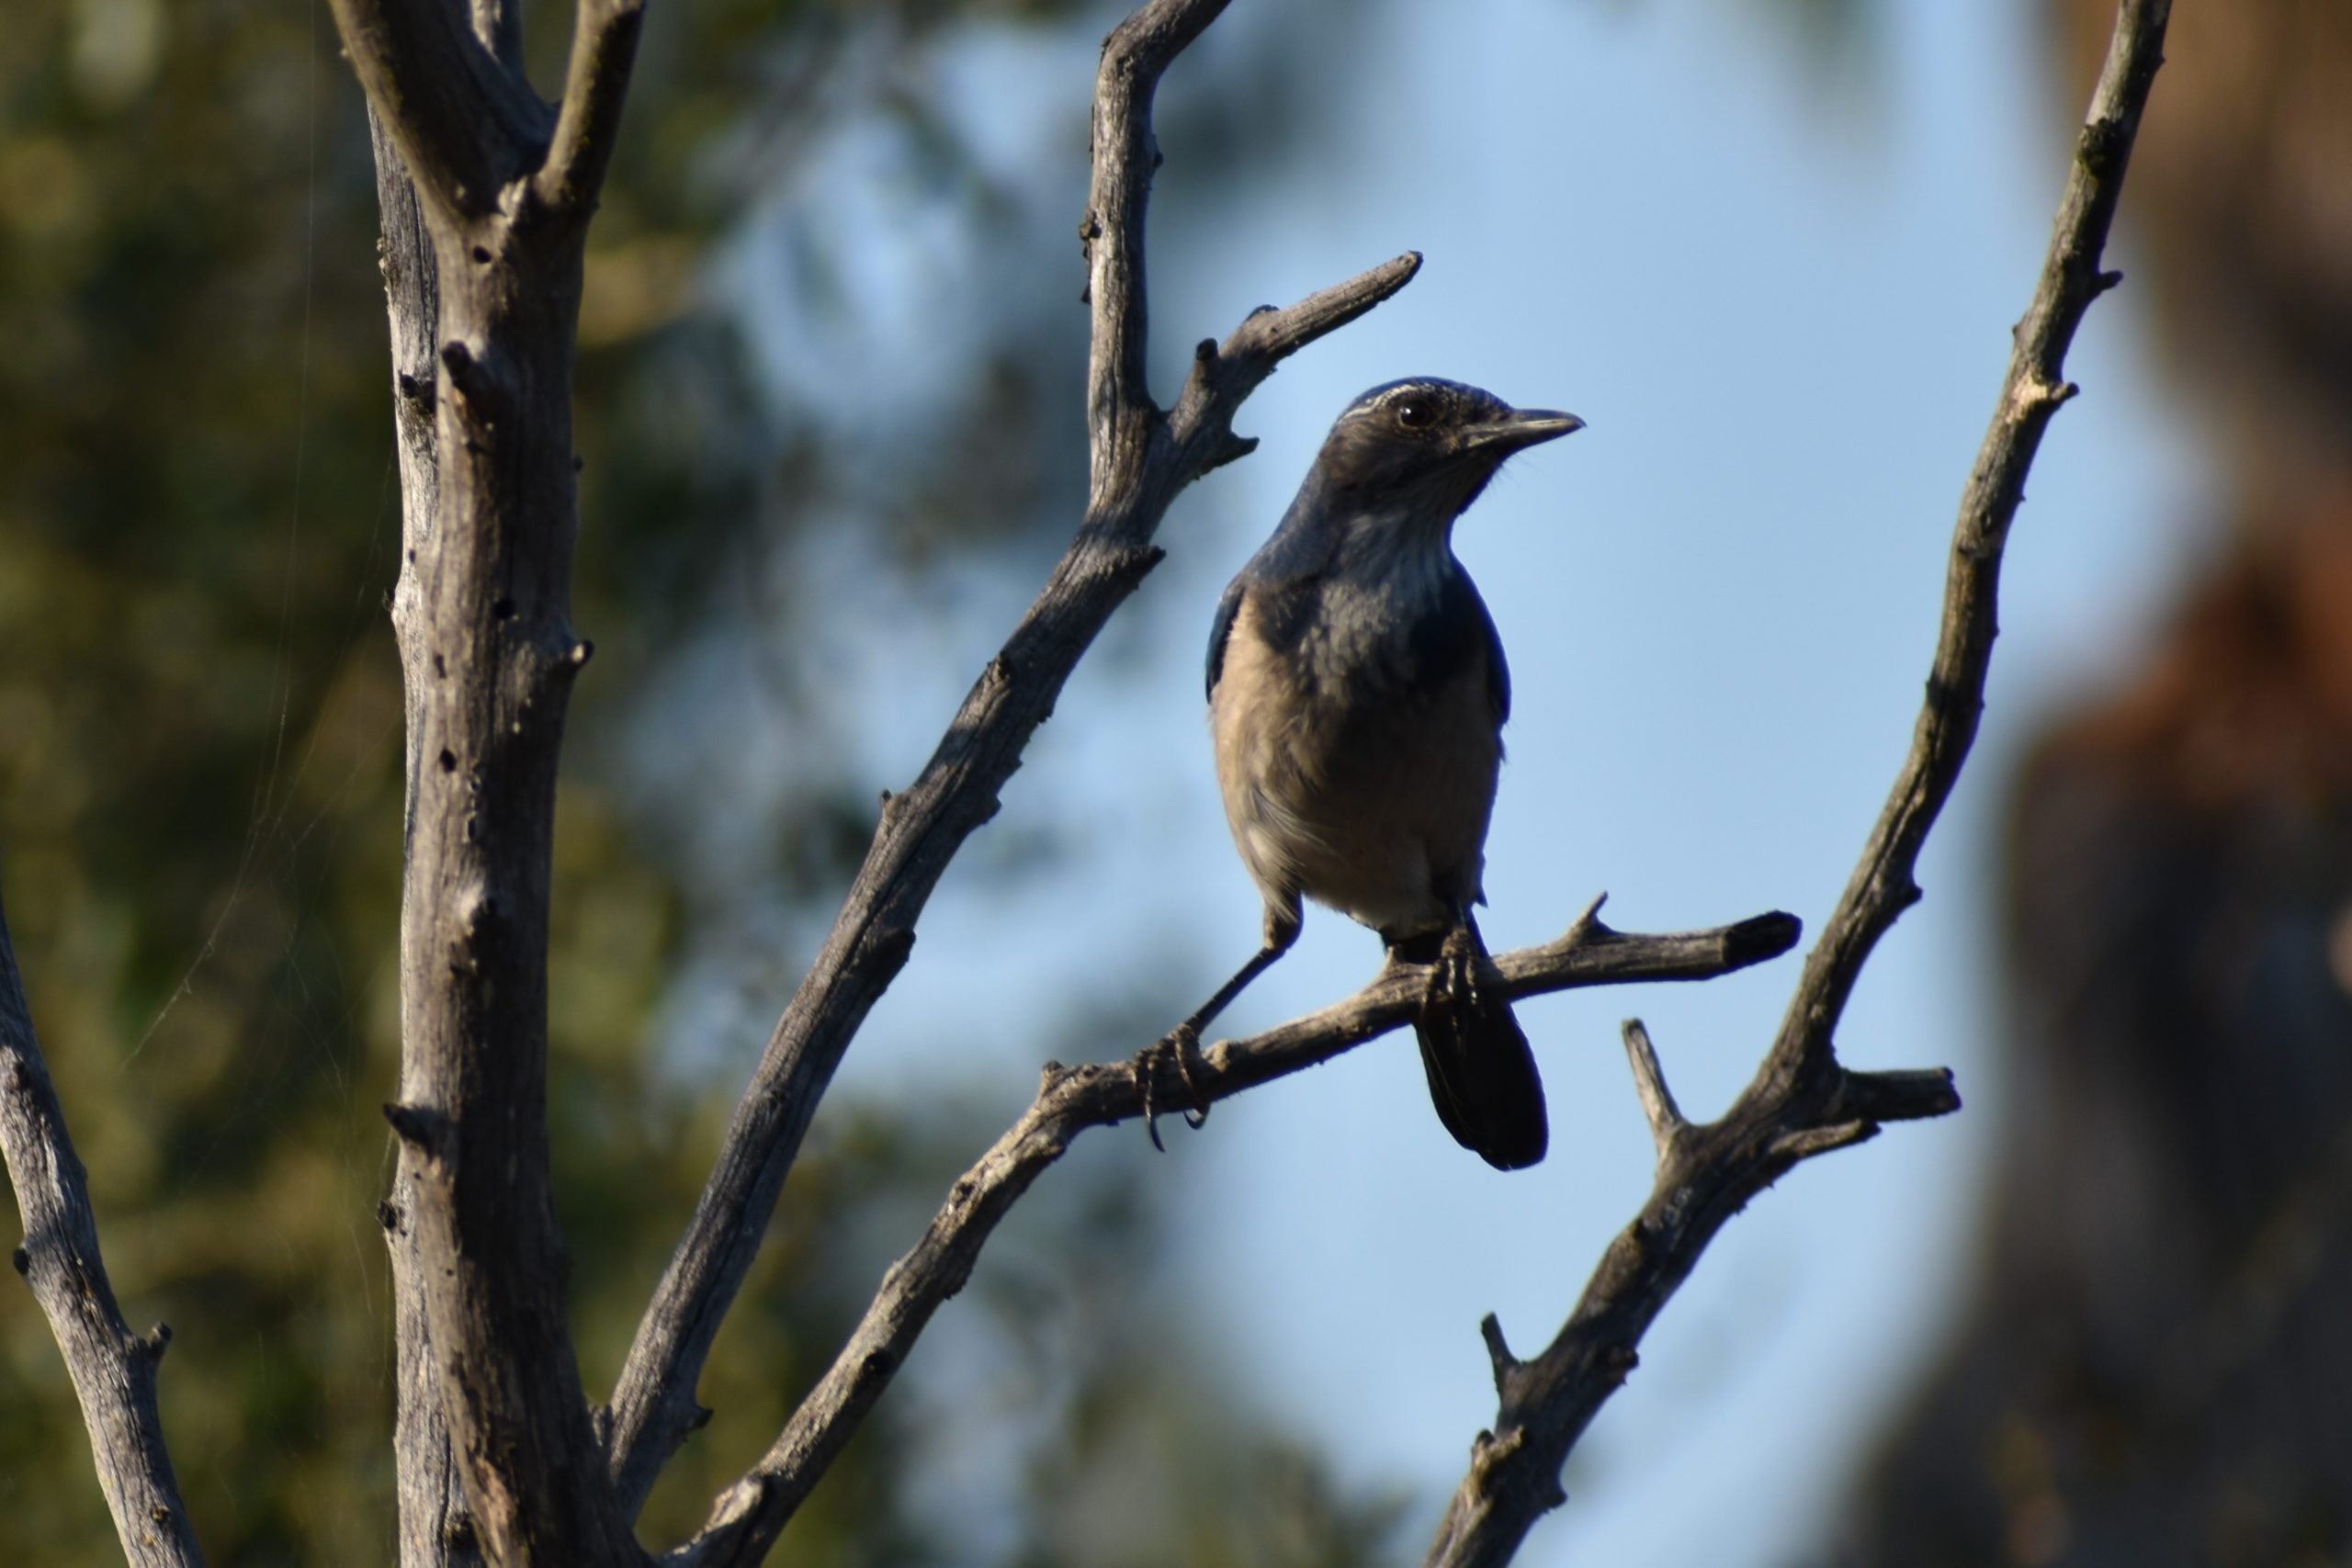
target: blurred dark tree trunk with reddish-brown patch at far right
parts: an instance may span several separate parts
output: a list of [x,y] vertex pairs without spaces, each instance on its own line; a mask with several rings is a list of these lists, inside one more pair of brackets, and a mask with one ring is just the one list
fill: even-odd
[[[2065,103],[2110,7],[2051,0]],[[2223,508],[2011,783],[1973,1305],[1837,1561],[2352,1561],[2352,7],[2183,5],[2124,223]]]

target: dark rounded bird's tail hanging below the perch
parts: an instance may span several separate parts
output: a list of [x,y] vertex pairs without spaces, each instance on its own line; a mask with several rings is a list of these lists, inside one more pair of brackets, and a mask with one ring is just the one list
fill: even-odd
[[1510,1004],[1479,985],[1486,945],[1477,924],[1463,917],[1458,933],[1432,931],[1397,943],[1397,957],[1444,964],[1414,1034],[1421,1037],[1430,1100],[1454,1143],[1477,1152],[1496,1171],[1519,1171],[1543,1159],[1550,1145],[1543,1079]]

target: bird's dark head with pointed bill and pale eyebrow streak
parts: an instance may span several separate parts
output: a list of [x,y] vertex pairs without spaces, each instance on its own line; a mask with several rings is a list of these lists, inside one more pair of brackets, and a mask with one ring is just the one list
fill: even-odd
[[1583,428],[1573,414],[1515,409],[1461,381],[1411,376],[1376,386],[1341,411],[1315,456],[1310,487],[1350,510],[1444,527],[1512,451]]

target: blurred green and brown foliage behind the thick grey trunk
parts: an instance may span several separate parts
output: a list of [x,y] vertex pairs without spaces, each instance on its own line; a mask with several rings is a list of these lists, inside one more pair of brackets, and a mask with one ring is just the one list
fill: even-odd
[[[908,569],[938,550],[1035,550],[1042,522],[1075,517],[1084,473],[1068,280],[1033,268],[1044,282],[1023,284],[1065,308],[1054,353],[1000,334],[960,367],[953,407],[995,423],[946,423],[913,477],[875,496],[823,421],[755,376],[741,310],[708,289],[713,247],[847,113],[854,63],[887,80],[873,61],[971,16],[1103,24],[1070,9],[699,0],[647,31],[588,263],[576,621],[607,656],[574,710],[588,741],[560,806],[553,933],[550,1110],[590,1387],[694,1204],[729,1088],[652,1060],[656,1006],[710,900],[595,736],[647,701],[668,649],[779,531],[868,517]],[[550,82],[562,28],[534,12],[550,12],[532,40]],[[315,2],[19,0],[9,33],[0,875],[16,947],[115,1288],[141,1324],[176,1331],[165,1418],[214,1561],[386,1561],[390,1305],[372,1208],[397,1053],[400,689],[383,616],[397,494],[362,110]],[[920,94],[873,101],[934,150],[938,200],[985,205]],[[1068,259],[1075,277],[1075,244]],[[816,776],[786,806],[755,872],[781,877],[779,898],[835,891],[863,849],[863,797]],[[717,1420],[656,1493],[652,1540],[699,1523],[769,1441],[985,1140],[978,1121],[866,1110],[821,1128],[710,1361]],[[917,1380],[788,1552],[1376,1554],[1390,1507],[1343,1497],[1258,1432],[1200,1347],[1164,1331],[1131,1150],[1089,1159],[1084,1182],[1042,1190],[1068,1197],[1023,1218],[1014,1262],[983,1269],[976,1295],[1000,1312],[955,1309],[1035,1321],[1047,1300],[1084,1328],[1025,1347],[1011,1328],[964,1331],[964,1361],[1009,1380],[1033,1427],[983,1500],[995,1528],[969,1533],[978,1505],[924,1502],[941,1439],[901,1415]],[[985,1420],[983,1406],[946,1429]],[[1150,1537],[1120,1502],[1138,1488],[1167,1509]],[[0,1561],[113,1554],[56,1349],[28,1295],[0,1291]]]

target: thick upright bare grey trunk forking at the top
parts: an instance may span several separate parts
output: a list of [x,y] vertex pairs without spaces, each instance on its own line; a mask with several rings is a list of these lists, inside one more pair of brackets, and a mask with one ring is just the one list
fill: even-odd
[[407,482],[400,1166],[383,1208],[402,1559],[477,1544],[496,1563],[640,1563],[572,1352],[546,1131],[555,764],[588,661],[567,609],[572,353],[640,7],[581,0],[553,115],[522,78],[510,5],[334,0],[334,16],[388,141]]

